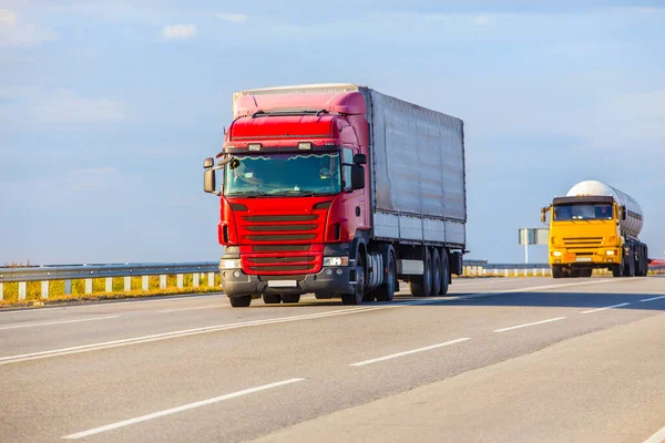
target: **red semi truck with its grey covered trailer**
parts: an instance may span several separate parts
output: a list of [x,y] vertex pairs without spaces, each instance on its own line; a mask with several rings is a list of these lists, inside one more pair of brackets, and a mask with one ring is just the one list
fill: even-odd
[[[221,185],[217,187],[217,173]],[[467,245],[463,122],[356,84],[241,91],[222,151],[222,289],[233,307],[446,295]]]

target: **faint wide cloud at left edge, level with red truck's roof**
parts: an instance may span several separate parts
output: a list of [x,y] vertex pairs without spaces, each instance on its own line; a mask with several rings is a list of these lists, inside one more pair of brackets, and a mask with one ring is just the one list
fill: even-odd
[[127,119],[125,107],[109,99],[78,96],[69,90],[0,87],[0,121],[10,125],[38,123],[119,122]]

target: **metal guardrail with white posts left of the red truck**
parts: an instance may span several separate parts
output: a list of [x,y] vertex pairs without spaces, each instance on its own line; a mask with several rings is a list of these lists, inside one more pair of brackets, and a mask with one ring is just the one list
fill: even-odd
[[160,276],[160,288],[166,288],[166,276],[177,276],[177,288],[183,288],[184,275],[193,276],[193,286],[201,285],[201,276],[207,274],[207,284],[214,286],[217,261],[153,262],[153,264],[93,264],[93,265],[44,265],[31,267],[0,268],[0,300],[4,297],[4,284],[19,284],[19,300],[24,300],[28,281],[41,281],[41,298],[49,298],[49,282],[64,280],[64,295],[72,293],[72,280],[85,280],[85,293],[92,293],[92,279],[105,278],[105,291],[113,291],[113,278],[124,278],[124,291],[132,290],[132,277],[143,277],[141,289],[150,289],[150,276]]

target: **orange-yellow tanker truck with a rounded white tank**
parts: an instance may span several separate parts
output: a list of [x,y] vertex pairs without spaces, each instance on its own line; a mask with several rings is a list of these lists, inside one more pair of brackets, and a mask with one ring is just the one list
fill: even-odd
[[614,277],[646,276],[648,249],[637,238],[644,224],[640,204],[598,181],[574,185],[541,209],[550,218],[552,277],[591,277],[610,269]]

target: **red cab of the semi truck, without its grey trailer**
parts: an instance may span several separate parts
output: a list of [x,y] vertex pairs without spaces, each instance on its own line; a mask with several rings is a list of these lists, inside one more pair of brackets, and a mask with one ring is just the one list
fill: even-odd
[[219,269],[232,305],[354,293],[350,244],[370,228],[365,97],[245,95],[234,107],[218,190],[206,161],[206,190],[221,196]]

